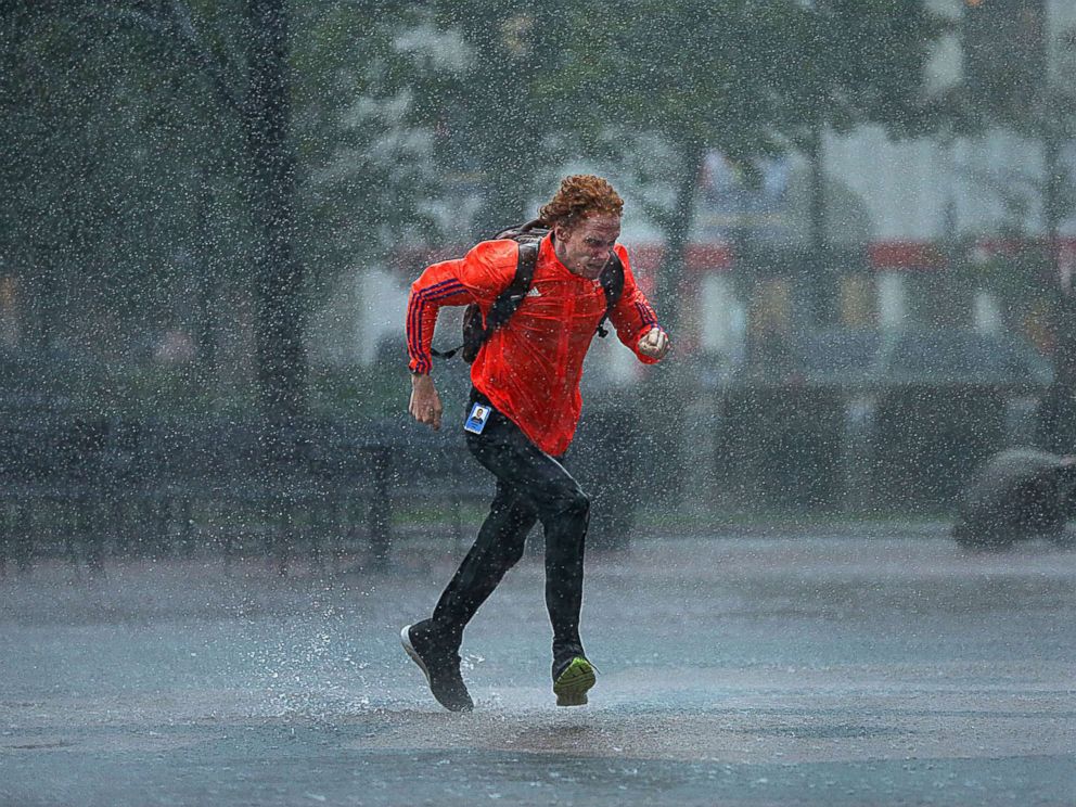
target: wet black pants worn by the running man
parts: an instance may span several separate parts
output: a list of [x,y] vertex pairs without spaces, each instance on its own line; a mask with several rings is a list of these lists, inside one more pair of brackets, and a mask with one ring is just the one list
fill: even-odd
[[[472,393],[472,404],[475,400],[488,402],[477,392]],[[527,533],[541,521],[553,657],[581,653],[579,611],[590,500],[560,462],[496,410],[482,434],[465,435],[471,453],[497,477],[497,494],[474,546],[434,609],[434,626],[458,648],[463,628],[523,558]]]

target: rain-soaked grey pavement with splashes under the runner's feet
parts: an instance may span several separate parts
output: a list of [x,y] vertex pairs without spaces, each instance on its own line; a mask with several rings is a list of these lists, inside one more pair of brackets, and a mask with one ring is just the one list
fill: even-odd
[[0,805],[1073,805],[1076,551],[715,530],[588,558],[589,706],[528,554],[467,630],[477,707],[398,643],[462,552],[0,579]]

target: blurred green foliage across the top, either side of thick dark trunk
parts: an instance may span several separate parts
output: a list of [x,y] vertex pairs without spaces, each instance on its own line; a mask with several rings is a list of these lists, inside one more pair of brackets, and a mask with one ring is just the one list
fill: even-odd
[[[0,247],[40,308],[28,321],[51,331],[42,342],[88,334],[102,353],[140,357],[146,334],[176,320],[239,330],[206,302],[222,282],[249,284],[259,256],[240,105],[248,7],[0,12]],[[750,172],[821,124],[923,126],[936,31],[918,0],[285,8],[289,236],[309,278],[291,303],[304,307],[402,242],[464,241],[533,213],[552,172],[584,154],[656,188],[655,221],[682,244],[706,149]]]

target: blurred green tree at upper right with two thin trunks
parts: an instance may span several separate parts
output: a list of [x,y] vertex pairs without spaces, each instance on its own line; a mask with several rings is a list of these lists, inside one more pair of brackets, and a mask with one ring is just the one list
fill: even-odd
[[[656,133],[668,144],[646,169],[669,191],[651,215],[665,231],[657,298],[670,322],[708,150],[748,177],[757,157],[805,152],[816,175],[812,246],[824,256],[822,131],[878,121],[907,133],[931,123],[923,68],[943,26],[921,0],[632,0],[606,26],[602,5],[578,3],[562,24],[571,56],[550,89],[588,119],[598,153],[638,165],[646,162],[633,154],[644,139]],[[827,272],[823,258],[810,278],[824,295],[823,317],[833,296]]]

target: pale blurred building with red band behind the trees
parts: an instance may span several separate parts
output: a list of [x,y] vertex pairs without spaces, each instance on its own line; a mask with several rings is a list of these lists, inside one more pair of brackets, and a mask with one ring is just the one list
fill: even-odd
[[[1071,276],[1076,264],[1076,210],[1055,212],[1051,221],[1050,155],[1034,125],[1047,103],[1045,88],[1076,84],[1076,3],[925,1],[953,21],[930,64],[930,91],[1009,104],[1011,120],[996,120],[974,134],[953,127],[906,140],[892,139],[881,126],[823,132],[822,240],[836,324],[1019,330],[1048,351],[1046,315],[1036,307],[1034,287],[1016,289],[1001,276],[1033,271],[1027,265],[1051,229],[1058,269]],[[1076,144],[1055,145],[1056,168],[1072,195]],[[572,166],[579,168],[586,166]],[[769,355],[759,344],[767,335],[778,338],[815,324],[806,299],[817,281],[810,167],[791,153],[756,168],[758,177],[747,181],[721,154],[708,155],[687,254],[678,348],[729,364]],[[629,210],[637,207],[629,198]],[[622,240],[643,280],[661,262],[658,238],[635,214],[626,217]],[[395,284],[379,276],[376,289],[357,295],[369,300],[376,292],[383,305],[367,305],[355,318],[336,312],[334,321],[355,324],[335,340],[333,358],[349,354],[369,360],[371,344],[398,337],[398,318],[385,312],[401,309],[408,276],[421,264],[420,256],[409,256],[400,260]],[[1058,282],[1064,281],[1027,278],[1032,286]],[[629,360],[607,358],[614,375],[631,372]]]

